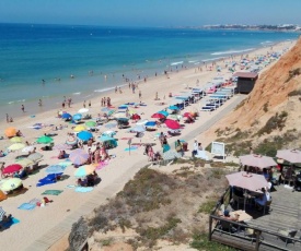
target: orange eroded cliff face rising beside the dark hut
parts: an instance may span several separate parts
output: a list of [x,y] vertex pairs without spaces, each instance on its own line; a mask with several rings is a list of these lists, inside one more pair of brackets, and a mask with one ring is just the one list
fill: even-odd
[[[231,136],[238,130],[247,131],[250,139],[266,139],[288,130],[300,130],[301,122],[301,38],[273,67],[259,74],[254,89],[238,108],[219,121],[206,134]],[[278,112],[278,113],[277,113]],[[285,116],[281,127],[268,133],[256,132],[277,115]],[[269,124],[269,125],[270,125]],[[219,133],[217,133],[217,131]],[[264,130],[263,130],[264,131]],[[222,133],[220,133],[222,132]],[[223,133],[225,132],[225,133]],[[244,139],[245,140],[245,139]]]

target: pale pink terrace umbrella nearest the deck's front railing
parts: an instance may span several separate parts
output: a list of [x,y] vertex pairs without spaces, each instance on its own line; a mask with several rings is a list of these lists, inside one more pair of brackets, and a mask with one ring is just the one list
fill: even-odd
[[268,187],[268,183],[263,175],[239,171],[227,175],[225,178],[228,179],[230,186],[246,189],[253,192],[256,192],[262,188]]

